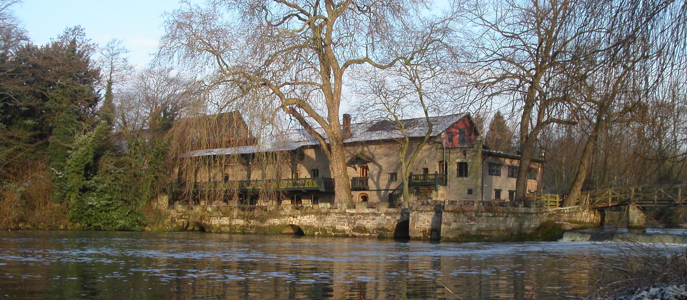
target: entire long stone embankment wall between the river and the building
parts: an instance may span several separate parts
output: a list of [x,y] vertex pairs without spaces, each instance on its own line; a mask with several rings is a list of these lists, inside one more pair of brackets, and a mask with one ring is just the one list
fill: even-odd
[[577,208],[514,207],[503,201],[164,207],[164,230],[250,234],[305,234],[416,240],[552,240],[563,230],[598,225],[598,214]]

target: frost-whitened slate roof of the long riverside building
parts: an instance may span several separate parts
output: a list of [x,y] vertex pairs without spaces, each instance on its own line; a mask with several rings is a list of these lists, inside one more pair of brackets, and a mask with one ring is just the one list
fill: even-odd
[[[431,116],[429,122],[432,123],[431,136],[438,136],[453,123],[460,120],[469,114],[447,114],[445,116]],[[427,132],[427,122],[425,118],[408,118],[401,120],[405,126],[405,130],[409,137],[418,138],[425,136]],[[315,128],[319,134],[326,139],[324,129]],[[362,123],[353,123],[350,125],[350,138],[346,138],[343,142],[365,142],[372,140],[387,140],[392,138],[403,138],[403,133],[394,127],[394,123],[389,121],[367,121]],[[271,151],[286,151],[295,150],[303,146],[318,145],[317,140],[313,138],[305,129],[289,129],[278,136],[274,136],[272,140],[263,142],[260,145],[219,148],[219,149],[203,149],[187,153],[184,156],[205,156],[205,155],[230,155],[230,154],[247,154],[258,152]]]

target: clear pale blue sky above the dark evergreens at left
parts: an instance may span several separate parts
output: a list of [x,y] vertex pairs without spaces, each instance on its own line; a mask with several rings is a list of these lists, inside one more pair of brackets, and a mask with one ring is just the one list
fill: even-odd
[[12,10],[32,42],[49,42],[65,28],[81,25],[87,38],[104,46],[122,40],[129,60],[138,68],[150,62],[164,34],[162,14],[179,8],[178,0],[24,0]]

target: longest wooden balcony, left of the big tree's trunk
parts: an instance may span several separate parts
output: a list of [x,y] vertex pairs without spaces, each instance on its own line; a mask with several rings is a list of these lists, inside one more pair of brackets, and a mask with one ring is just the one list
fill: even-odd
[[320,177],[194,182],[193,190],[208,192],[227,192],[229,190],[240,192],[258,192],[260,190],[334,192],[334,179]]

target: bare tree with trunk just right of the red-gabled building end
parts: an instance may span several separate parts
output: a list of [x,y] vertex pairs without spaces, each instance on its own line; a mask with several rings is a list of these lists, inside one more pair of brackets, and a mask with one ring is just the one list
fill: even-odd
[[[572,124],[565,101],[570,45],[594,31],[596,2],[575,0],[478,1],[469,8],[473,30],[467,51],[475,85],[489,98],[510,99],[521,110],[520,166],[515,199],[526,194],[527,173],[539,132]],[[474,32],[477,31],[477,33]]]

